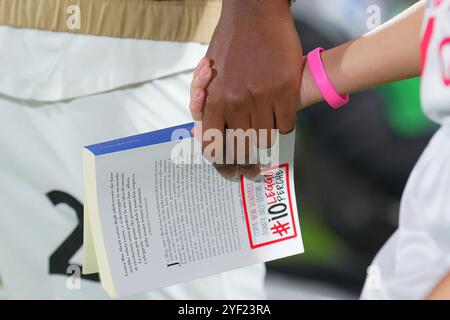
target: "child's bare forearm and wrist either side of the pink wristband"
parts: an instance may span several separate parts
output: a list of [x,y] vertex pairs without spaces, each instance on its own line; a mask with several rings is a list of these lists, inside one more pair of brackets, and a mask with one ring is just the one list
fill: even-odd
[[[322,54],[327,74],[339,93],[356,92],[420,74],[420,1],[374,31]],[[306,66],[302,107],[323,98]]]

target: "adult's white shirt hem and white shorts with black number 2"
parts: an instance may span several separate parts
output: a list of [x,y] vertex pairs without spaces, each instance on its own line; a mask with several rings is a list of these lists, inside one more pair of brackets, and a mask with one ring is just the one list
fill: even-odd
[[[108,298],[82,264],[85,145],[191,121],[207,46],[0,26],[0,297]],[[264,267],[138,298],[261,299]]]

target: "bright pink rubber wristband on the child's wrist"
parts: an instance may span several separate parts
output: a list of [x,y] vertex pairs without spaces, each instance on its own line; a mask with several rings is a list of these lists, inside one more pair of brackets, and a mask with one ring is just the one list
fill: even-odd
[[339,109],[348,103],[350,97],[348,94],[340,95],[331,83],[322,62],[321,54],[324,51],[323,48],[317,48],[311,51],[308,53],[306,61],[309,70],[311,71],[312,78],[325,101],[328,102],[333,109]]

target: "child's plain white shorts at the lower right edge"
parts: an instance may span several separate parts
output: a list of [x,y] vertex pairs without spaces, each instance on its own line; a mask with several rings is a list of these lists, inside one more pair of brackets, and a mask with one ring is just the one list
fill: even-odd
[[450,272],[450,127],[415,166],[398,230],[368,270],[362,299],[423,299]]

